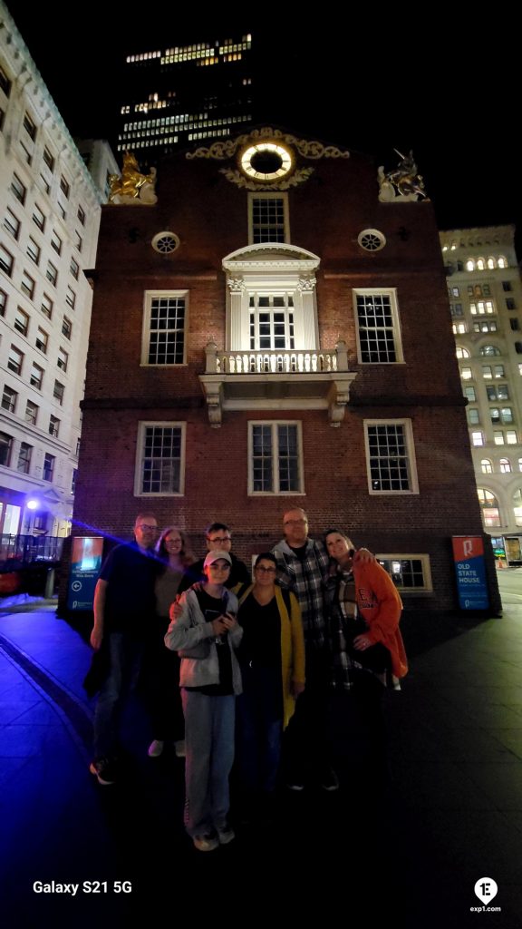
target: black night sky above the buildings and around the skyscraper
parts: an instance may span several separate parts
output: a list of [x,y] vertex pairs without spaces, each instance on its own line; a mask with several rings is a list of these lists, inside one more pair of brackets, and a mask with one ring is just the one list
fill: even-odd
[[334,19],[312,21],[296,7],[283,20],[277,7],[270,14],[265,6],[262,26],[244,16],[222,13],[212,20],[200,12],[182,20],[163,13],[140,25],[146,15],[130,15],[120,5],[111,7],[105,25],[106,3],[91,0],[78,8],[66,39],[49,29],[55,7],[58,17],[62,7],[52,0],[38,6],[11,0],[73,135],[111,137],[124,97],[118,66],[125,54],[200,41],[202,28],[216,38],[251,32],[267,47],[258,83],[268,123],[374,154],[386,169],[398,162],[394,148],[412,149],[441,229],[522,227],[518,56],[503,18],[497,32],[491,18],[477,22],[475,31],[454,13],[445,13],[444,22],[424,15],[421,24],[405,21],[399,7],[387,19],[372,7],[368,21],[359,13],[357,25],[341,26]]

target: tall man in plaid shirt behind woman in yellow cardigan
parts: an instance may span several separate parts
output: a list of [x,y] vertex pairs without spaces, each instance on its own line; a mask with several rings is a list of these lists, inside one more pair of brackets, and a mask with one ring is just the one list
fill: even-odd
[[283,531],[284,539],[273,549],[278,580],[299,601],[307,653],[307,686],[286,732],[286,782],[291,790],[302,791],[311,775],[325,791],[336,791],[339,781],[329,763],[327,739],[330,653],[324,582],[330,559],[322,542],[308,539],[307,514],[300,507],[284,514]]

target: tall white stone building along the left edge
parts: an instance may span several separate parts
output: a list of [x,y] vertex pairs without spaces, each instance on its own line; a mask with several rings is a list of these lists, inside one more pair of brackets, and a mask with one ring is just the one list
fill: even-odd
[[70,529],[105,200],[0,0],[0,536]]

